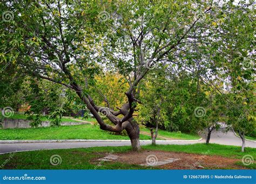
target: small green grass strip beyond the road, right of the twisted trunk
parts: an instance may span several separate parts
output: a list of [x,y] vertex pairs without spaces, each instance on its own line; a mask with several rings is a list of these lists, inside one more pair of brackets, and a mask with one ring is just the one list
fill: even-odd
[[[141,127],[140,130],[150,133],[150,130],[148,128]],[[181,132],[169,132],[169,131],[164,131],[164,130],[158,130],[158,135],[164,136],[166,138],[172,138],[172,139],[184,139],[184,140],[200,139],[198,134],[186,134],[186,133],[181,133]]]

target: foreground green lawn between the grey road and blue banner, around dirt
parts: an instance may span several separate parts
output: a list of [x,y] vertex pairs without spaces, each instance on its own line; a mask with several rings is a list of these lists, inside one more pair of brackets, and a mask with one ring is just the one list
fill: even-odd
[[[246,148],[244,153],[240,152],[238,146],[224,146],[217,144],[194,144],[194,145],[157,145],[142,146],[146,150],[162,150],[170,152],[185,152],[208,155],[219,155],[227,158],[241,159],[242,156],[250,154],[256,158],[255,148]],[[43,151],[30,151],[15,153],[2,169],[152,169],[152,167],[143,167],[138,165],[129,165],[120,162],[102,162],[101,166],[93,163],[92,159],[102,158],[103,153],[121,153],[131,151],[130,146],[123,147],[93,147],[93,148],[75,148],[75,149],[52,149]],[[58,154],[62,158],[62,163],[57,166],[50,164],[52,155]],[[9,159],[10,154],[0,155],[0,166]],[[241,165],[241,162],[237,163]],[[253,163],[247,168],[255,169]],[[157,167],[153,167],[157,169]]]

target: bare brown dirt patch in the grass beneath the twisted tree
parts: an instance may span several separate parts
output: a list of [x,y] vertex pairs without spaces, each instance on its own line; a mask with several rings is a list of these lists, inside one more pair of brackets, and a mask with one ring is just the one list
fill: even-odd
[[[170,158],[180,159],[172,163],[167,163],[165,165],[155,166],[154,168],[156,169],[247,169],[246,167],[235,164],[236,162],[241,161],[239,159],[231,159],[213,155],[210,156],[207,154],[200,155],[165,151],[142,151],[139,153],[114,153],[114,155],[119,156],[119,158],[113,160],[112,162],[122,162],[136,165],[140,165],[143,163],[145,164],[146,158],[149,155],[155,155],[158,161],[164,161]],[[106,155],[103,155],[103,157],[104,156]],[[204,168],[198,168],[199,165],[203,166]]]

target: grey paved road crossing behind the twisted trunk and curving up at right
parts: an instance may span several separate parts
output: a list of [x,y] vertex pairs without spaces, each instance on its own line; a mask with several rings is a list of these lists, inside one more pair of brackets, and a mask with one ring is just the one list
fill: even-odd
[[[203,143],[202,141],[161,141],[158,140],[157,144],[163,145],[187,145]],[[241,146],[241,139],[235,137],[233,132],[222,133],[220,131],[212,132],[211,143],[217,143],[222,145],[234,145]],[[151,144],[151,141],[141,141],[141,145]],[[0,144],[0,154],[15,152],[15,151],[31,151],[39,149],[65,149],[65,148],[85,148],[85,147],[99,147],[99,146],[130,146],[130,141],[97,141],[97,142],[40,142],[40,143],[11,143]],[[256,148],[256,142],[246,141],[246,147]]]

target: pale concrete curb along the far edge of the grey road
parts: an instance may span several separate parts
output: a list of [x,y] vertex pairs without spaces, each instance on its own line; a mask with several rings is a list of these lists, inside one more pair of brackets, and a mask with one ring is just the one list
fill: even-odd
[[[157,140],[156,142],[193,142],[197,140]],[[140,142],[151,142],[152,140],[140,140]],[[0,140],[0,144],[10,143],[40,143],[40,142],[130,142],[130,140],[95,140],[95,139],[58,139],[58,140]]]

